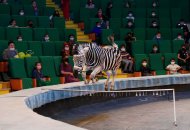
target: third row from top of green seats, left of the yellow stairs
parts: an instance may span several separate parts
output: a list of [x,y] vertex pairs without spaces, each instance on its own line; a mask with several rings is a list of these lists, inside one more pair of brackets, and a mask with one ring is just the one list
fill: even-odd
[[60,41],[67,40],[70,34],[73,34],[76,37],[76,30],[57,28],[32,29],[0,27],[0,40],[17,40],[17,37],[22,35],[23,41],[42,41],[45,34],[49,35],[50,41]]

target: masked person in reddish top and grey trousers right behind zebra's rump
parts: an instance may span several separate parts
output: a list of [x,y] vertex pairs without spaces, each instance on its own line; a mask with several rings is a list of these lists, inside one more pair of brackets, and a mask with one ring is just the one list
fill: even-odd
[[122,72],[123,73],[132,73],[133,72],[133,60],[129,53],[125,49],[125,45],[122,45],[120,48],[122,56]]

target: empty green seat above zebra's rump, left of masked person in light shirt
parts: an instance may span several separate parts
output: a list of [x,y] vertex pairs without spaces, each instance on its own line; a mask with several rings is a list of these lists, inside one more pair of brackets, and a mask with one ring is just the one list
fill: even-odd
[[113,30],[115,39],[119,40],[119,31],[121,28],[121,19],[120,18],[111,18],[110,19],[110,28]]

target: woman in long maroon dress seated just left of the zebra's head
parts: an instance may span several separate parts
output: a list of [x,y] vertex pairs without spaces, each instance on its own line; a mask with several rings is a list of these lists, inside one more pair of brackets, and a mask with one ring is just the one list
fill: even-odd
[[65,83],[79,82],[78,78],[75,78],[73,74],[73,68],[69,64],[69,59],[65,57],[61,63],[61,74],[65,76]]

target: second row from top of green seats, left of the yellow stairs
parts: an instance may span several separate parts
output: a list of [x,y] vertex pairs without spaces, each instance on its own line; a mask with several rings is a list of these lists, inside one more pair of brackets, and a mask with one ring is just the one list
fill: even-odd
[[[48,16],[10,16],[8,14],[0,14],[0,26],[8,26],[11,19],[15,19],[17,26],[19,27],[26,27],[28,25],[27,22],[31,20],[35,28],[49,28],[51,22]],[[65,29],[65,19],[63,17],[55,17],[53,19],[53,27]]]

